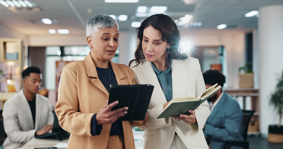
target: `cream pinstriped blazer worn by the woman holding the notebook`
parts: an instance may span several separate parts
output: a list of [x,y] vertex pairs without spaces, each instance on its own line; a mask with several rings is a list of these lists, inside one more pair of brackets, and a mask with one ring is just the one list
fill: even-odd
[[[144,148],[168,149],[176,132],[188,149],[208,149],[202,132],[206,119],[210,115],[207,101],[195,110],[197,119],[195,124],[186,124],[171,118],[156,119],[163,111],[164,103],[167,102],[165,95],[150,62],[144,59],[138,66],[133,67],[134,65],[131,68],[135,73],[136,83],[154,86],[147,110],[149,118],[146,124],[139,127],[145,130]],[[205,90],[200,64],[196,58],[172,60],[172,87],[173,99],[198,97]]]

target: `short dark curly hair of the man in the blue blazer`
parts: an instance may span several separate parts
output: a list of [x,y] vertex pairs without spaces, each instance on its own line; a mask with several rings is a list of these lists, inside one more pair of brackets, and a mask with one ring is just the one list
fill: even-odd
[[202,74],[204,83],[214,85],[218,83],[221,87],[225,84],[225,76],[218,70],[207,70]]

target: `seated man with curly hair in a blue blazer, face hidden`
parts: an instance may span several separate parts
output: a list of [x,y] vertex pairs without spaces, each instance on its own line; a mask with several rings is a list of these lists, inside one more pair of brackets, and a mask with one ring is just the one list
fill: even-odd
[[[204,72],[203,79],[206,89],[216,83],[223,87],[225,83],[225,76],[218,70]],[[206,120],[204,135],[206,138],[210,138],[211,148],[223,149],[225,141],[243,140],[243,115],[238,102],[225,93],[222,88],[207,101],[210,105],[211,115]]]

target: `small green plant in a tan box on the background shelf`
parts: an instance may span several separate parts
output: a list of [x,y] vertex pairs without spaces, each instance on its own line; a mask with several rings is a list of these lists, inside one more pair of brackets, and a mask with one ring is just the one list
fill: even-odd
[[239,88],[253,88],[253,69],[252,63],[239,68]]

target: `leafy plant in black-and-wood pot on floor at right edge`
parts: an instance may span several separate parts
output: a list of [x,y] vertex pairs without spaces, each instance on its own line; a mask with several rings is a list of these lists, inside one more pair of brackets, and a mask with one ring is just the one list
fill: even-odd
[[281,125],[283,116],[283,71],[278,79],[275,91],[271,94],[269,104],[279,115],[279,123],[278,125],[269,125],[267,140],[271,143],[283,143],[283,126]]

